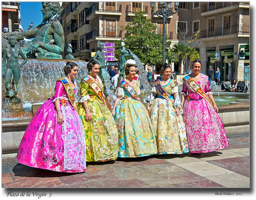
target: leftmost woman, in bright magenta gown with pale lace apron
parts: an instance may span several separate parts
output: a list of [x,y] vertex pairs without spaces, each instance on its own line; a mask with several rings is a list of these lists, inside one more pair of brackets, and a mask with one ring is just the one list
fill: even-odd
[[78,67],[67,61],[55,96],[38,109],[19,144],[17,161],[56,172],[85,172],[85,132],[76,109]]

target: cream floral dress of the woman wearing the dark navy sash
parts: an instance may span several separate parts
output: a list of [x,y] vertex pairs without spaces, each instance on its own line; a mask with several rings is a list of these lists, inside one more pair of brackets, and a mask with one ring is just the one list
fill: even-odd
[[[166,86],[162,86],[168,94],[177,93],[176,80],[170,79]],[[189,152],[185,124],[182,114],[176,116],[174,104],[161,96],[156,87],[152,88],[157,97],[150,106],[150,119],[156,133],[158,154],[181,154]]]

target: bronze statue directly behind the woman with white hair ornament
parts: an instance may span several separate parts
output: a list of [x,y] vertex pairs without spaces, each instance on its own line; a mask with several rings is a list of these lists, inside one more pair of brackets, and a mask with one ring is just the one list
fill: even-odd
[[119,59],[117,61],[117,67],[120,70],[119,82],[125,78],[126,57],[132,56],[132,52],[130,51],[130,49],[126,49],[124,46],[125,46],[125,43],[124,41],[122,41],[121,46],[119,48],[119,51],[122,54],[121,56],[119,56]]

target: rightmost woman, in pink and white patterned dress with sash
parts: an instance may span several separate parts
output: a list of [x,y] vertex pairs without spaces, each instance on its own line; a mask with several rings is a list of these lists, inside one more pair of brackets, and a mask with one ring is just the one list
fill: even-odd
[[201,62],[195,60],[193,73],[184,77],[181,92],[191,154],[213,152],[229,146],[223,123],[217,114],[218,107],[209,87],[208,76],[201,74],[200,70]]

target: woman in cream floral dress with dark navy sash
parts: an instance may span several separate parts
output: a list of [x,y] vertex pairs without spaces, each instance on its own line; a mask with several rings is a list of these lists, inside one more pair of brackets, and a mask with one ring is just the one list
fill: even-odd
[[[155,97],[147,112],[156,133],[158,154],[181,154],[189,152],[185,124],[180,114],[181,103],[178,83],[171,79],[171,67],[164,64],[160,69],[163,78],[156,79],[152,94]],[[151,99],[152,100],[152,99]]]

